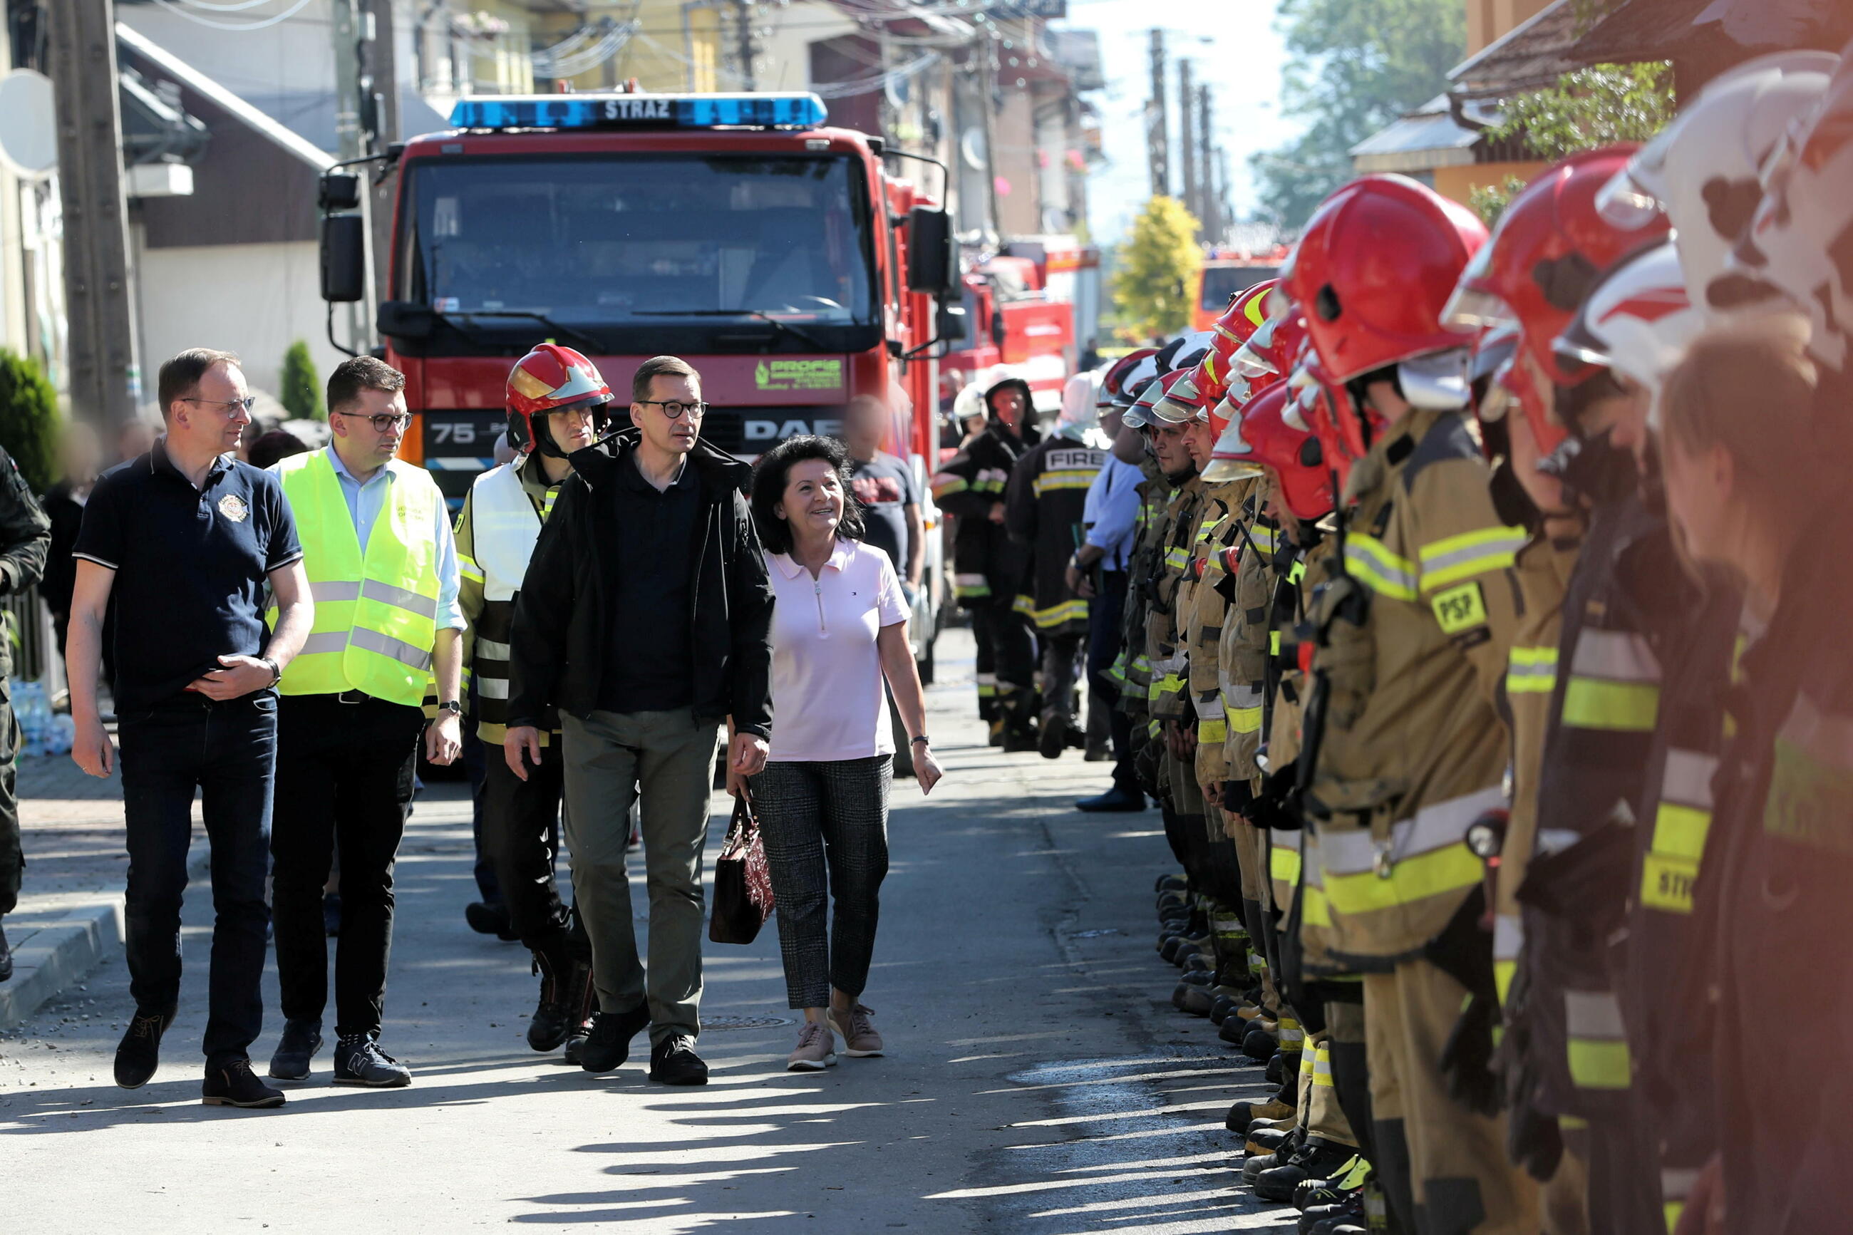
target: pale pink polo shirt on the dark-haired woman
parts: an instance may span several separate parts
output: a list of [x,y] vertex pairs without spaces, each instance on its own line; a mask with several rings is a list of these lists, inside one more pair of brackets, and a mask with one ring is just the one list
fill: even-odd
[[813,580],[788,554],[767,554],[773,580],[771,759],[821,763],[891,755],[888,696],[875,635],[908,620],[888,554],[838,541]]

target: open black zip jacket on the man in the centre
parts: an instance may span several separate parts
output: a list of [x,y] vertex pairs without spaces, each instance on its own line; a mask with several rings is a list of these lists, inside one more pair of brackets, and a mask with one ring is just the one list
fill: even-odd
[[[619,468],[634,467],[639,431],[573,454],[573,476],[560,485],[554,513],[528,561],[510,639],[508,724],[539,724],[548,704],[586,718],[599,707],[611,631],[617,554]],[[689,576],[689,668],[697,720],[734,718],[739,733],[769,737],[773,728],[773,589],[741,487],[745,463],[697,441],[687,467],[700,480],[702,513]],[[663,552],[674,552],[663,546]],[[637,655],[649,655],[637,648]]]

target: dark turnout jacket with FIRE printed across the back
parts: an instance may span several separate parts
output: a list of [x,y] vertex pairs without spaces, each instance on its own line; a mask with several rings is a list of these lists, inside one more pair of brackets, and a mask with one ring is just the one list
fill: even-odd
[[1086,635],[1088,602],[1067,589],[1067,563],[1082,543],[1088,485],[1106,450],[1073,437],[1030,446],[1010,472],[1004,531],[1028,550],[1030,620],[1043,635]]

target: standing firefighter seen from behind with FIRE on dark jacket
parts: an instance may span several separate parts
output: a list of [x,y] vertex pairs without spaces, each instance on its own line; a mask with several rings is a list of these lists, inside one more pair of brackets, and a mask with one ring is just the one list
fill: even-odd
[[1004,530],[1030,555],[1030,624],[1041,644],[1041,731],[1045,759],[1082,746],[1086,730],[1075,674],[1088,641],[1088,602],[1067,581],[1082,543],[1088,485],[1106,467],[1108,441],[1095,407],[1099,376],[1075,374],[1062,389],[1062,415],[1049,437],[1017,461],[1004,491]]

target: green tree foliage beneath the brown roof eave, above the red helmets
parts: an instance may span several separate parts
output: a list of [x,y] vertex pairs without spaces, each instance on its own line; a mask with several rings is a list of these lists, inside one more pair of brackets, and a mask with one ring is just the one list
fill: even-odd
[[1673,119],[1673,67],[1594,65],[1566,72],[1557,85],[1519,94],[1501,107],[1488,137],[1523,135],[1545,161],[1618,141],[1647,141]]

